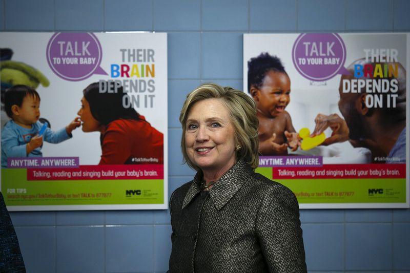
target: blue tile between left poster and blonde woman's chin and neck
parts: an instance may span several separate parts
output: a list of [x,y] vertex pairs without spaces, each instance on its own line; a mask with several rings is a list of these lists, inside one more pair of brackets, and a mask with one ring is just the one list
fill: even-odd
[[172,158],[168,160],[168,174],[170,176],[185,175],[193,177],[196,172],[193,171],[186,163],[183,163],[180,145],[181,134],[182,129],[168,129],[168,154],[172,155]]

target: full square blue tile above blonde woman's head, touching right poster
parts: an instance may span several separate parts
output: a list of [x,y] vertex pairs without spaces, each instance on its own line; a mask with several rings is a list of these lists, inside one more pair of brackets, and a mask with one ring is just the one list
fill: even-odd
[[242,33],[202,33],[202,78],[242,79]]

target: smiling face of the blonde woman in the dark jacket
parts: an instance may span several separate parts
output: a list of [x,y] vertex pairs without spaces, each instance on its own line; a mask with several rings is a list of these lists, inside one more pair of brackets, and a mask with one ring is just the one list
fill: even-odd
[[229,110],[216,98],[196,102],[188,113],[185,144],[189,159],[204,173],[225,173],[236,162]]

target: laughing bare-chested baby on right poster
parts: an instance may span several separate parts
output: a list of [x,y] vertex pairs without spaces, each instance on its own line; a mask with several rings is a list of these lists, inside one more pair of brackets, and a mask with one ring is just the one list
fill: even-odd
[[261,53],[248,61],[248,91],[257,107],[259,152],[287,155],[288,147],[296,151],[300,137],[285,111],[291,101],[291,80],[278,57]]

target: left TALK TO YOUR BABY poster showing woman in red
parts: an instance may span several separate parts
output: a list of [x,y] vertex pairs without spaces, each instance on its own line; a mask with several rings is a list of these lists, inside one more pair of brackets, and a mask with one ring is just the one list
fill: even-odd
[[166,33],[0,33],[9,211],[166,209]]

